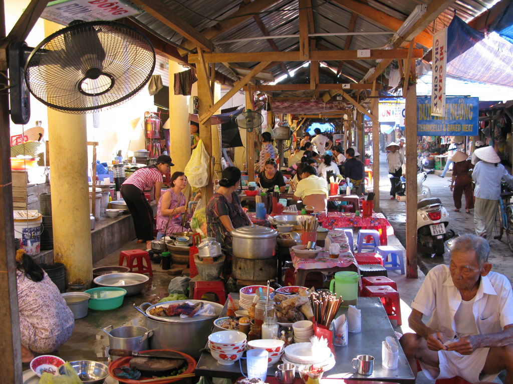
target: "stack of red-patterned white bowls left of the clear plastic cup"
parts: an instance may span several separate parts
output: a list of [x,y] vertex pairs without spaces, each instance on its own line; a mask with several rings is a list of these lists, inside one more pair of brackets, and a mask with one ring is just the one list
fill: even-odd
[[210,354],[222,366],[231,366],[246,350],[246,334],[239,331],[214,332],[208,336]]

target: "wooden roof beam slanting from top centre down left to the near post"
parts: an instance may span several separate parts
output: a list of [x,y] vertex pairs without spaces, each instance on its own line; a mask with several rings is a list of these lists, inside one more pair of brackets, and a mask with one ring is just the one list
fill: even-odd
[[[277,0],[255,0],[252,3],[240,7],[239,10],[233,12],[225,20],[222,20],[213,27],[204,29],[201,31],[201,34],[207,39],[213,39],[214,37],[219,36],[220,34],[245,22],[245,20],[252,16],[252,14],[261,12],[276,2]],[[184,41],[182,46],[187,49],[194,49],[196,47],[193,41]],[[183,52],[184,55],[186,53],[187,52],[185,51]]]

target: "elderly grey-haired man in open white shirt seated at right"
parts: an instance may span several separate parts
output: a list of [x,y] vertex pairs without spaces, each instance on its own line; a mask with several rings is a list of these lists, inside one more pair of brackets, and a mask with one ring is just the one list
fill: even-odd
[[431,380],[492,381],[506,370],[506,383],[513,382],[511,284],[490,271],[489,252],[486,240],[465,234],[453,242],[449,266],[427,274],[408,318],[416,333],[400,340],[415,374],[418,361]]

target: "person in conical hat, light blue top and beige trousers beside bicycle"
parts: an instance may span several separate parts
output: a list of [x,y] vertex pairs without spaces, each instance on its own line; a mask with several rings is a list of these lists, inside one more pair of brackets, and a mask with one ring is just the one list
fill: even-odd
[[504,165],[500,164],[501,159],[493,147],[485,146],[477,149],[474,153],[481,160],[474,166],[472,172],[472,180],[476,183],[474,225],[476,234],[490,242],[494,236],[492,231],[498,201],[501,198],[501,180],[506,180],[511,188],[513,177],[507,172]]

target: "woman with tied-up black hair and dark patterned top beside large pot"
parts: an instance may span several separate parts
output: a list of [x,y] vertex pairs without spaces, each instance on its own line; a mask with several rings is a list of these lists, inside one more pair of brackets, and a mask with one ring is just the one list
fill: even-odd
[[241,171],[237,167],[227,167],[223,170],[220,187],[208,202],[207,234],[219,241],[224,253],[232,254],[232,238],[230,232],[245,225],[251,225],[251,220],[241,206],[236,190],[241,185]]

